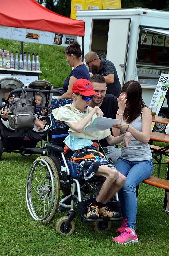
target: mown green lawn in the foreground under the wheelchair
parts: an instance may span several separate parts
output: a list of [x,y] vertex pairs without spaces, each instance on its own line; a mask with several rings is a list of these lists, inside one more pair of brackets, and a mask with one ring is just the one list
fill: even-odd
[[[76,213],[75,233],[62,236],[55,232],[55,221],[65,213],[56,213],[47,225],[34,221],[27,209],[25,184],[27,172],[37,155],[3,153],[0,164],[0,255],[5,256],[91,256],[91,255],[168,255],[168,216],[163,211],[164,190],[141,183],[138,194],[136,231],[138,244],[122,246],[112,243],[119,222],[111,230],[97,234],[91,223],[80,224]],[[165,157],[163,157],[165,158]],[[164,160],[164,159],[163,159]],[[161,168],[166,177],[167,164]],[[158,165],[153,174],[157,175]]]

